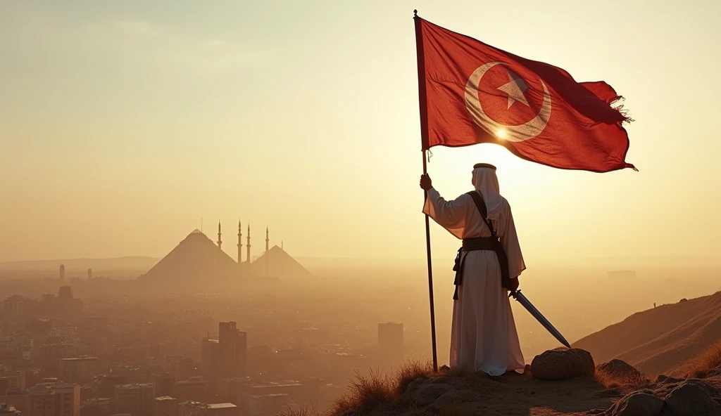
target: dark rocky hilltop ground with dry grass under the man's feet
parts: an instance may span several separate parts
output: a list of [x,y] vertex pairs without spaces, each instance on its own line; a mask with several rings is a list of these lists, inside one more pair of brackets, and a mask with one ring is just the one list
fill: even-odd
[[342,415],[721,416],[721,366],[705,379],[650,381],[623,361],[595,366],[583,350],[547,351],[525,374],[419,376],[394,399]]

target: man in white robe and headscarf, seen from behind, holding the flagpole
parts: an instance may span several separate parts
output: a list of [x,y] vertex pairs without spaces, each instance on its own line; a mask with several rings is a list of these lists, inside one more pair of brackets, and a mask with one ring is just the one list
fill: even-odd
[[508,291],[518,289],[518,276],[526,265],[495,171],[487,163],[475,165],[475,191],[453,201],[433,189],[428,175],[420,177],[420,187],[428,191],[423,212],[463,240],[454,267],[451,368],[472,368],[490,376],[523,373],[526,366],[508,300]]

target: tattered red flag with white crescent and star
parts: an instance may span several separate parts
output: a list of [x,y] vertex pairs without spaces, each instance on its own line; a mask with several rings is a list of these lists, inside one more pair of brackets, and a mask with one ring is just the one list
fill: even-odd
[[547,63],[415,17],[423,150],[497,143],[554,168],[608,172],[626,163],[630,121],[609,84],[578,83]]

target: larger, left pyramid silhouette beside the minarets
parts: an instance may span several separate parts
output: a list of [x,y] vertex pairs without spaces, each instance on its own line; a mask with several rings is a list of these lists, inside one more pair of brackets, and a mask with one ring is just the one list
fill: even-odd
[[140,280],[177,286],[216,286],[239,283],[238,263],[211,241],[194,230],[151,268]]

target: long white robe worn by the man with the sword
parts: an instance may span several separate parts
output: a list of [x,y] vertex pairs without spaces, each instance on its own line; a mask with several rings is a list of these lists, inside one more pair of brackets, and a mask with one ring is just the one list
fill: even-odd
[[[509,276],[514,278],[526,265],[508,201],[503,199],[498,211],[493,227],[508,256]],[[457,238],[491,235],[470,195],[446,201],[438,191],[430,189],[423,212]],[[451,368],[473,368],[491,376],[500,376],[506,371],[522,373],[526,362],[518,342],[508,291],[501,287],[498,258],[490,250],[469,251],[464,257],[458,300],[453,307]]]

